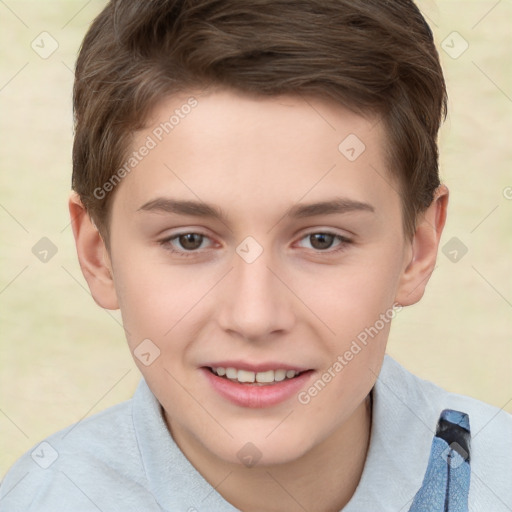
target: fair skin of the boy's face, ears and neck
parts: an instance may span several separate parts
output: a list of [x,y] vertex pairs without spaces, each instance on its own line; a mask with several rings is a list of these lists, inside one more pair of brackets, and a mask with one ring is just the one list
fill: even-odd
[[[157,105],[133,149],[188,96]],[[422,297],[448,190],[439,187],[409,240],[382,123],[313,98],[195,96],[198,106],[117,186],[110,252],[72,194],[82,271],[100,306],[120,308],[132,352],[144,339],[158,346],[151,365],[134,360],[174,440],[225,499],[245,512],[338,511],[364,467],[389,324],[307,404],[298,392],[267,407],[234,404],[205,365],[286,363],[309,370],[308,390],[379,315]],[[355,161],[338,150],[349,134],[366,146]],[[156,198],[208,203],[226,218],[141,209]],[[335,214],[286,215],[334,198],[345,201]],[[184,233],[204,236],[187,244],[176,237]],[[263,249],[251,263],[236,252],[248,236]],[[253,467],[237,456],[247,443],[261,454]]]

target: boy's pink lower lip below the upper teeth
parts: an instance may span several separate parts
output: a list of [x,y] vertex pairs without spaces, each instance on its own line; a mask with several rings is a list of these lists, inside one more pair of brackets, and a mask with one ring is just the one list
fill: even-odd
[[256,385],[233,382],[219,377],[207,368],[201,368],[211,386],[219,395],[240,407],[258,409],[277,405],[298,393],[310,379],[312,370],[303,372],[293,379],[285,379],[274,384]]

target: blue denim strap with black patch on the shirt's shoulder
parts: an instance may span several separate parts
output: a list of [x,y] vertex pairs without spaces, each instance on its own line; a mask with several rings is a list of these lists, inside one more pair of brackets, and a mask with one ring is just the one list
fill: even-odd
[[468,415],[445,409],[437,423],[423,484],[409,512],[468,512],[470,441]]

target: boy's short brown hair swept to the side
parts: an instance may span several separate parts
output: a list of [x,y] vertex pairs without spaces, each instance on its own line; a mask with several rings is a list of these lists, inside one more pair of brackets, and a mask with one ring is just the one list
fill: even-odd
[[95,191],[158,101],[210,85],[377,115],[412,236],[440,184],[447,108],[432,32],[412,0],[111,0],[84,38],[73,91],[72,186],[107,246],[113,193]]

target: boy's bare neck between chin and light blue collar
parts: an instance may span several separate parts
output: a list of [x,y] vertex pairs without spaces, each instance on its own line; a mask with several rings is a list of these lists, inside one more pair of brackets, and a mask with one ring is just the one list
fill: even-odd
[[338,512],[350,501],[361,478],[371,417],[370,393],[347,422],[300,458],[252,468],[205,453],[202,445],[174,425],[172,435],[210,485],[243,512]]

